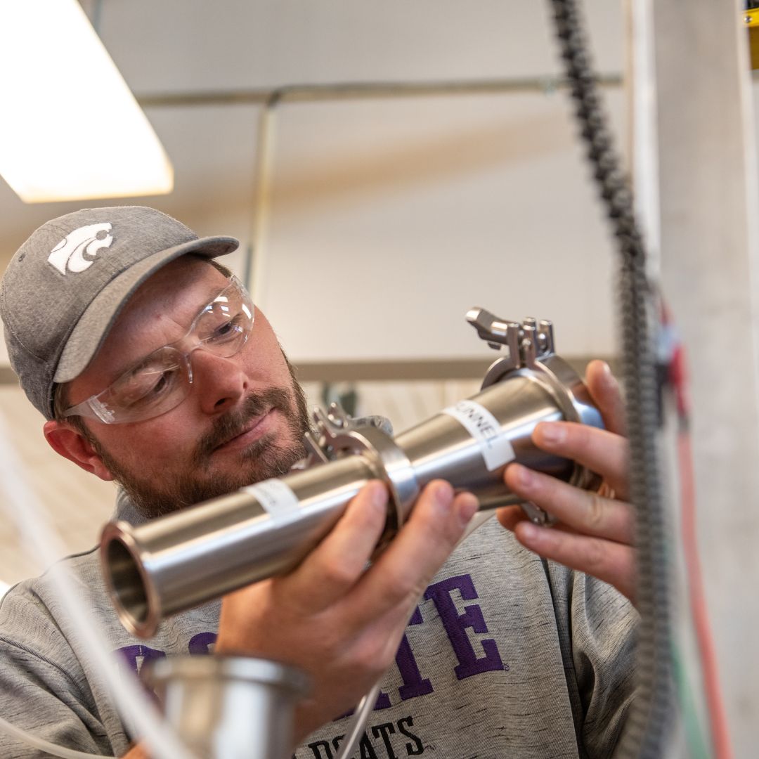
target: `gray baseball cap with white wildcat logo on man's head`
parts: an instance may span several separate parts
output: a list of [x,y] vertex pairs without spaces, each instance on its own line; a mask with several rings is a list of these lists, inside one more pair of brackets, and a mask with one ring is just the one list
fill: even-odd
[[55,384],[83,372],[154,272],[188,253],[215,258],[237,247],[144,206],[82,209],[39,227],[0,285],[11,366],[33,405],[52,419]]

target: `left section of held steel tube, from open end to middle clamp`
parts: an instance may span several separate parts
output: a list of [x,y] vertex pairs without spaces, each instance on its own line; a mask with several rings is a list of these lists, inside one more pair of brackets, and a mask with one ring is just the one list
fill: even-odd
[[121,623],[150,638],[165,616],[293,568],[373,476],[350,456],[284,477],[297,509],[267,510],[244,489],[140,527],[106,524],[101,562]]

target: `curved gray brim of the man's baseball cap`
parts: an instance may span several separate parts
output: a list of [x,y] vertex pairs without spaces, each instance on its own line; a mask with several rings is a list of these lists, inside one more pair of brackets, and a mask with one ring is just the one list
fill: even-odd
[[208,237],[160,250],[130,266],[118,277],[112,279],[83,312],[71,332],[58,361],[53,380],[56,383],[70,382],[87,367],[106,339],[118,313],[134,291],[154,272],[170,261],[188,253],[216,258],[231,253],[238,247],[238,241],[230,237]]

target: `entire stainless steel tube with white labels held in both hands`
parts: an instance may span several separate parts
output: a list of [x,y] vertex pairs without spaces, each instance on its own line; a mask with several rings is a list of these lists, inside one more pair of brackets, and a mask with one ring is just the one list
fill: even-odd
[[[510,461],[590,487],[592,473],[531,442],[541,421],[602,426],[581,380],[565,362],[551,355],[532,367],[505,372],[496,362],[484,385],[477,395],[395,440],[364,430],[353,438],[359,448],[342,458],[337,452],[334,461],[137,528],[124,522],[106,525],[101,557],[121,622],[147,638],[165,616],[293,568],[373,477],[386,480],[393,501],[383,543],[408,518],[412,496],[436,478],[474,493],[481,509],[518,502],[503,482]],[[346,434],[349,430],[341,430],[332,440]]]

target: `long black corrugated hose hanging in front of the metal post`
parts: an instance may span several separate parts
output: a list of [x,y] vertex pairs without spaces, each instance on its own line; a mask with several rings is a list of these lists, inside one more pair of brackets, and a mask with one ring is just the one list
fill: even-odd
[[659,460],[659,407],[653,344],[653,298],[646,254],[635,222],[631,192],[613,148],[578,3],[550,0],[565,74],[572,87],[581,136],[620,253],[619,307],[622,367],[630,438],[630,493],[635,506],[637,556],[638,695],[631,707],[616,757],[664,754],[672,715],[672,631],[666,520]]

